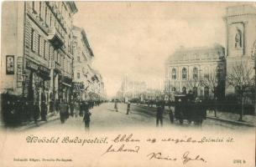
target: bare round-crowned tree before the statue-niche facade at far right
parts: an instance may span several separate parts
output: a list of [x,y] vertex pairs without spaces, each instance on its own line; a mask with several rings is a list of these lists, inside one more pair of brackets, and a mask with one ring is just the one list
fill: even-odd
[[241,113],[239,120],[243,120],[243,105],[245,93],[254,85],[253,68],[248,62],[238,62],[232,66],[232,72],[227,76],[228,85],[235,89],[241,102]]

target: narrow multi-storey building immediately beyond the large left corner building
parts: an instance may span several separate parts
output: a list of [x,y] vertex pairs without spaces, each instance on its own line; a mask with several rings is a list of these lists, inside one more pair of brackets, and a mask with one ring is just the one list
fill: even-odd
[[88,89],[91,85],[92,77],[94,76],[91,62],[94,54],[86,38],[86,32],[83,28],[74,26],[74,80],[73,91],[75,98],[87,99]]

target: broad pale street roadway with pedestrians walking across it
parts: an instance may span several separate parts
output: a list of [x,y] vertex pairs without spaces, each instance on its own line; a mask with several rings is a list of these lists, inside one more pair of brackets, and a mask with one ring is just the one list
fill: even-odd
[[[147,107],[131,105],[131,111],[129,114],[126,114],[127,104],[118,104],[118,112],[114,110],[113,103],[101,104],[91,109],[91,124],[90,131],[98,130],[120,130],[120,129],[139,129],[139,128],[154,128],[156,124],[155,119],[155,109],[149,109]],[[201,126],[196,126],[195,124],[179,124],[178,121],[175,121],[175,124],[170,124],[170,119],[168,114],[165,111],[163,119],[163,128],[164,129],[199,129],[203,131],[207,130],[222,130],[222,129],[241,129],[248,130],[247,126],[241,126],[236,124],[223,123],[222,121],[214,119],[205,119]],[[60,119],[55,119],[53,121],[45,122],[39,127],[33,127],[27,130],[46,130],[46,129],[55,129],[56,131],[81,131],[84,130],[84,123],[82,117],[69,117],[66,120],[65,124],[60,124]]]

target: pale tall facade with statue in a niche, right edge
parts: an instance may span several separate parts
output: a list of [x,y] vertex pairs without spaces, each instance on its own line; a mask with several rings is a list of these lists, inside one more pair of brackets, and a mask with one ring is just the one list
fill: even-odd
[[[227,28],[227,76],[238,63],[255,67],[256,56],[256,7],[240,5],[227,8],[224,22]],[[254,73],[252,73],[254,75]],[[253,76],[251,76],[253,78]],[[232,86],[226,88],[226,94],[233,94]]]

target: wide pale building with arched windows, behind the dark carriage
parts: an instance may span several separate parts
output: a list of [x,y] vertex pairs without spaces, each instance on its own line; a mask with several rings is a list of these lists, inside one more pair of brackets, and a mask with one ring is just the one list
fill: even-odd
[[212,47],[180,47],[170,55],[165,63],[165,92],[194,92],[199,96],[209,97],[210,88],[202,85],[203,80],[215,82],[218,98],[224,95],[225,84],[225,49],[214,44]]

